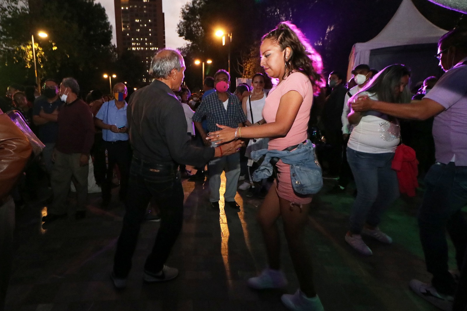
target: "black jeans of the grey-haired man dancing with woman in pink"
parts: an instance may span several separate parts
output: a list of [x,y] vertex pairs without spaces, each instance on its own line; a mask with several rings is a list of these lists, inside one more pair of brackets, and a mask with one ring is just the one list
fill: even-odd
[[153,273],[162,270],[183,223],[184,193],[180,174],[174,168],[163,169],[155,163],[133,158],[126,212],[113,263],[115,276],[126,278],[130,271],[141,222],[151,198],[159,207],[161,225],[144,269]]

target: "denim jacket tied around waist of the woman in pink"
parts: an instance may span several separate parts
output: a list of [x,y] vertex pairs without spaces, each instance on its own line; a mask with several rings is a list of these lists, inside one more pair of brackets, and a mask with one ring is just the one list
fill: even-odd
[[310,141],[301,143],[295,150],[280,151],[261,149],[251,153],[254,161],[259,161],[262,156],[264,161],[253,173],[253,180],[260,181],[272,175],[272,157],[277,157],[283,163],[290,165],[290,178],[293,190],[299,194],[314,194],[323,187],[321,166],[316,159],[315,145]]

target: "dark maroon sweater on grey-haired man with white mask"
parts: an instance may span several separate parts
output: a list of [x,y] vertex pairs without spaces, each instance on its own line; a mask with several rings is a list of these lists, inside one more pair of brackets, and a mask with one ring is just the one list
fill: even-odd
[[58,110],[58,138],[55,148],[63,153],[89,154],[94,143],[94,120],[81,99],[63,104]]

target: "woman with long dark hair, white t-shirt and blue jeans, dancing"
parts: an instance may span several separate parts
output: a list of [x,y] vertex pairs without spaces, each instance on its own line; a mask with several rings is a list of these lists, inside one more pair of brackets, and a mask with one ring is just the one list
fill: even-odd
[[[410,70],[404,65],[390,65],[380,71],[360,92],[350,100],[369,97],[390,103],[408,103],[411,94],[407,85]],[[363,113],[351,110],[348,115],[354,130],[347,143],[347,162],[357,185],[350,230],[345,240],[359,253],[373,252],[361,238],[361,233],[382,243],[392,239],[378,225],[382,213],[399,196],[396,171],[391,169],[392,159],[400,142],[399,122],[396,118],[376,111]]]

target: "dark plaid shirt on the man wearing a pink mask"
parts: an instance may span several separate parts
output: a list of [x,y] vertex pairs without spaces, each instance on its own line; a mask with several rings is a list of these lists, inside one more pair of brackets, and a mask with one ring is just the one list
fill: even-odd
[[229,102],[227,104],[227,111],[224,108],[224,104],[217,97],[217,92],[203,97],[201,105],[196,109],[193,115],[193,121],[201,122],[204,116],[207,120],[207,129],[209,132],[218,131],[220,128],[217,124],[226,125],[228,127],[238,127],[239,123],[243,123],[247,120],[245,113],[241,109],[240,101],[237,96],[232,93],[228,93]]

